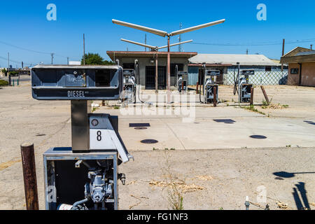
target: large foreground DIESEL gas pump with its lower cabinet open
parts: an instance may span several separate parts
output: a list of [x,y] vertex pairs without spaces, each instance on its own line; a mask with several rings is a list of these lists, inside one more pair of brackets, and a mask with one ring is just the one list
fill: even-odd
[[90,113],[89,100],[118,100],[120,66],[37,65],[32,97],[71,101],[71,147],[43,153],[45,209],[118,209],[118,166],[132,159],[118,132],[118,117]]

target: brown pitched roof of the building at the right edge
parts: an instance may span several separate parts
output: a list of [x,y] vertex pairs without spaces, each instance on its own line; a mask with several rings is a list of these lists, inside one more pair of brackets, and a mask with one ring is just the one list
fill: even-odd
[[315,50],[308,48],[294,48],[290,52],[281,57],[282,63],[302,63],[302,62],[315,62]]

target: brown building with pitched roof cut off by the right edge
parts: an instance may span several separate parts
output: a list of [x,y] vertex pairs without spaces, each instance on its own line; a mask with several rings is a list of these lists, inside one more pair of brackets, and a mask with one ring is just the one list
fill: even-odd
[[315,87],[315,50],[294,48],[281,57],[288,64],[288,85]]

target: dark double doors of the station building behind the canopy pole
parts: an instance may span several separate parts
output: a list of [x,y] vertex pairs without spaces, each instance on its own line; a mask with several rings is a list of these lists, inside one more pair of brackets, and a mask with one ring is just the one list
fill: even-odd
[[[166,66],[158,66],[158,89],[166,89]],[[146,66],[146,90],[155,90],[155,66]]]

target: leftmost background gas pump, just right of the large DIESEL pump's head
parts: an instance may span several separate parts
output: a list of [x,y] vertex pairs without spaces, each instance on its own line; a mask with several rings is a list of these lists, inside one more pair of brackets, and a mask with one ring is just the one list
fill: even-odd
[[136,104],[137,84],[134,69],[123,69],[123,84],[123,90],[125,92],[124,98],[128,99],[128,101],[131,101],[133,104]]

